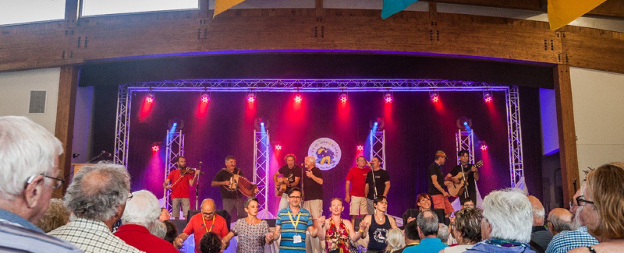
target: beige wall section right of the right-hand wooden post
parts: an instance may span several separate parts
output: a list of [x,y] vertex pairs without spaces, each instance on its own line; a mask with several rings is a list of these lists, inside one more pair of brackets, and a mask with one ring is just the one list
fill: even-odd
[[583,170],[624,161],[624,74],[570,68],[579,178]]

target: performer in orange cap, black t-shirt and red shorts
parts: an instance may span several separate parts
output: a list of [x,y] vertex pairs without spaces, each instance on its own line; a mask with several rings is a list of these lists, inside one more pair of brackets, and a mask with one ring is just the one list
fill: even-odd
[[451,202],[449,202],[449,196],[451,196],[451,194],[447,193],[447,191],[442,188],[442,184],[451,184],[451,182],[448,181],[444,182],[444,178],[442,178],[442,165],[444,165],[446,159],[446,153],[442,150],[438,150],[436,152],[436,161],[429,165],[429,195],[433,201],[433,207],[436,209],[444,209],[445,216],[449,217],[451,216],[451,212],[453,212],[453,206],[451,206]]

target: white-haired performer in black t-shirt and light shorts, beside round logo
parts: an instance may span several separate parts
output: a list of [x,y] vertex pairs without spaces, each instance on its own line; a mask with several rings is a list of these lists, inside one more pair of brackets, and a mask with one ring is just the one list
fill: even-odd
[[[321,169],[316,168],[316,158],[314,156],[306,156],[303,159],[306,168],[303,174],[303,209],[310,211],[314,226],[318,221],[316,219],[323,215],[323,173]],[[306,245],[311,246],[307,252],[320,253],[321,242],[318,238],[307,239]]]

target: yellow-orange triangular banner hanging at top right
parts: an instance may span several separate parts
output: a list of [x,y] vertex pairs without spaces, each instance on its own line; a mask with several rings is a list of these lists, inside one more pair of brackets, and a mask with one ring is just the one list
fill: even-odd
[[548,23],[550,29],[559,29],[606,0],[548,0]]

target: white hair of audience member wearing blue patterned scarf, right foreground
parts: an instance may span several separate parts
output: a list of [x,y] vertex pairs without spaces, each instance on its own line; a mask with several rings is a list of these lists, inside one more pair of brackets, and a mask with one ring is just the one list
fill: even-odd
[[492,226],[490,237],[529,242],[533,210],[529,198],[519,189],[492,191],[483,199],[483,217]]

